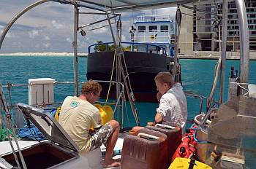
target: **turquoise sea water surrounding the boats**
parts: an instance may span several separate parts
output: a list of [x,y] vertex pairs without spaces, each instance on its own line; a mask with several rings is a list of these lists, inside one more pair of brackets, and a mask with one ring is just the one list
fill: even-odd
[[[78,58],[79,82],[86,81],[87,58]],[[73,58],[67,56],[0,56],[0,81],[2,84],[27,84],[28,79],[49,77],[59,82],[73,81]],[[214,67],[217,60],[181,60],[181,72],[184,90],[208,96],[214,78]],[[225,99],[227,99],[227,81],[230,66],[238,69],[238,60],[227,60],[225,76]],[[256,61],[249,63],[249,82],[256,84]],[[154,79],[152,79],[154,80]],[[72,84],[59,84],[54,87],[55,101],[63,101],[67,95],[74,95]],[[13,87],[12,103],[28,103],[27,87]],[[218,93],[218,90],[216,91]],[[7,100],[7,90],[5,90]],[[216,94],[216,99],[218,95]],[[195,117],[199,110],[200,101],[195,98],[188,100],[188,121]],[[136,103],[141,125],[154,119],[157,103]],[[127,107],[129,104],[127,103]],[[132,115],[128,114],[126,125],[134,125]],[[129,120],[128,120],[129,119]]]

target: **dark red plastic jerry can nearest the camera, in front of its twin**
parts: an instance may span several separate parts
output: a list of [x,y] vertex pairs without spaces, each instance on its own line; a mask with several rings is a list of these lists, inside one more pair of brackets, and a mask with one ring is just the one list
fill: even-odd
[[167,136],[143,128],[138,135],[127,135],[121,154],[122,169],[168,168]]

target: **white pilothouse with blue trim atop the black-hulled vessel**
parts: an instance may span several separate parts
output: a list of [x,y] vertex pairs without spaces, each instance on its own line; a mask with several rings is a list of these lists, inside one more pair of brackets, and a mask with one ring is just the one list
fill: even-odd
[[[154,44],[164,47],[167,55],[173,58],[175,47],[175,22],[170,15],[140,15],[130,30],[131,41],[135,43]],[[136,45],[139,51],[149,50],[159,52],[156,47],[145,49],[142,45]]]

